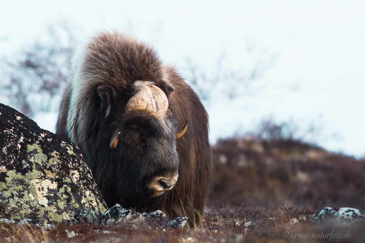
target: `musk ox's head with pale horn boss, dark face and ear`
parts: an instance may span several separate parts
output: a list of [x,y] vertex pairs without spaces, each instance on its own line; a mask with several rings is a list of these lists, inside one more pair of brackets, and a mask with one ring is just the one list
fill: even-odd
[[111,85],[100,85],[97,92],[105,118],[117,111],[110,121],[116,128],[110,140],[104,142],[110,141],[111,153],[118,158],[116,163],[124,165],[120,171],[130,174],[123,180],[126,195],[158,196],[172,189],[179,168],[176,139],[185,133],[187,123],[177,133],[177,122],[168,110],[164,91],[150,82],[136,81],[133,96],[125,106],[118,102],[117,91]]

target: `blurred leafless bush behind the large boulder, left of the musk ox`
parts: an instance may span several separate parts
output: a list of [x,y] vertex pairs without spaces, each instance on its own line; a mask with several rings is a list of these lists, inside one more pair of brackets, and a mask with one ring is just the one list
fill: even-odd
[[39,111],[57,110],[76,43],[72,29],[59,23],[48,27],[45,38],[1,60],[2,102],[29,117]]

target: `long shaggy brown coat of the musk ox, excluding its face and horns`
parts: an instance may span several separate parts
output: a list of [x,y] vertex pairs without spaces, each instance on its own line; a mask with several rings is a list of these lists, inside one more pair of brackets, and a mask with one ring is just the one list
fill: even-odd
[[[171,145],[174,149],[176,142],[179,161],[176,185],[161,196],[142,199],[126,198],[130,196],[116,181],[134,178],[115,162],[120,161],[118,154],[105,146],[134,95],[136,81],[153,83],[165,92],[169,101],[166,119],[177,121],[170,124],[176,126],[174,132],[189,119],[187,132]],[[97,91],[100,85],[113,87],[114,93],[103,99]],[[108,97],[118,102],[108,103]],[[120,203],[139,210],[160,209],[170,217],[188,216],[191,223],[201,223],[213,168],[208,115],[197,94],[174,67],[162,64],[152,47],[117,32],[92,38],[78,57],[62,96],[56,133],[80,148],[108,206]]]

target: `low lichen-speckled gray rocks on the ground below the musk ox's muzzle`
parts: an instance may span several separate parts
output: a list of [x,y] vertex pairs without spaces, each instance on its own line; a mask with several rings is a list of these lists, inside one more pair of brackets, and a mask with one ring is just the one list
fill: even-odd
[[138,213],[130,209],[122,208],[115,204],[109,208],[99,219],[99,222],[107,226],[138,228],[141,224],[158,228],[177,229],[183,228],[188,217],[169,219],[164,212],[157,210],[151,213]]

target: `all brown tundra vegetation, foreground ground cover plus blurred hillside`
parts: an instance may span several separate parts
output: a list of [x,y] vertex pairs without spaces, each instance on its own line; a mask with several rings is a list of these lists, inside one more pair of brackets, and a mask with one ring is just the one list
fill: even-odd
[[362,222],[310,222],[323,207],[364,208],[364,160],[293,140],[231,138],[212,149],[214,180],[199,227],[77,223],[46,231],[0,223],[0,242],[363,242]]

